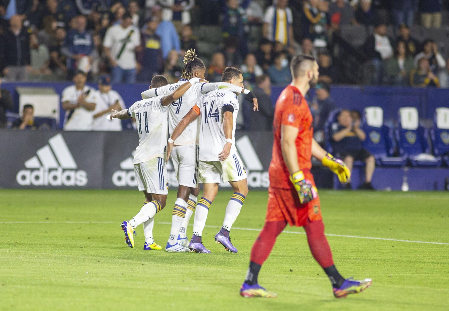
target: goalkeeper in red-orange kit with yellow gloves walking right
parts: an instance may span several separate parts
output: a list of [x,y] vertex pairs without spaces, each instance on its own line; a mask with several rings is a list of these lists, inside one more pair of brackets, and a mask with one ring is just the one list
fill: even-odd
[[269,167],[265,224],[252,246],[251,262],[240,294],[243,297],[276,297],[257,283],[257,276],[276,237],[289,224],[304,227],[313,257],[329,277],[335,297],[342,298],[366,289],[371,280],[344,279],[334,265],[324,235],[320,199],[310,173],[311,157],[328,166],[340,182],[347,182],[350,171],[313,139],[312,114],[303,94],[317,83],[317,62],[313,57],[298,55],[293,57],[290,69],[293,80],[277,99],[274,113],[273,158]]

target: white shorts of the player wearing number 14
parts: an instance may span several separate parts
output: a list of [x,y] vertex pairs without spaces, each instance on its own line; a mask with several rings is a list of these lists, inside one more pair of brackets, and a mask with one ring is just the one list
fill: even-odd
[[225,161],[199,162],[199,183],[225,183],[247,178],[243,162],[237,153],[229,154]]

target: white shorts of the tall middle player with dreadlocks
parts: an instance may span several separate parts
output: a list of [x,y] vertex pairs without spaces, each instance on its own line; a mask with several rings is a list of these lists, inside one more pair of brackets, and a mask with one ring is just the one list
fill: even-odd
[[199,146],[196,144],[173,147],[171,157],[178,184],[198,187],[198,153]]

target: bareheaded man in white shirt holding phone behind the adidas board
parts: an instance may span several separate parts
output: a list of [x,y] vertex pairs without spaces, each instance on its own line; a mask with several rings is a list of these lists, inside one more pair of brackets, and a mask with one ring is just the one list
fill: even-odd
[[64,118],[65,131],[92,130],[93,111],[95,110],[95,90],[86,85],[87,75],[77,70],[73,76],[74,85],[62,91],[62,109],[66,110]]

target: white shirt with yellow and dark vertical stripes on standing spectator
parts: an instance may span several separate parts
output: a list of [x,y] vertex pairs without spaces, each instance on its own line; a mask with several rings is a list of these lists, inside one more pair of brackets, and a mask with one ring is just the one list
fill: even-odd
[[[273,23],[275,22],[274,14],[276,14],[276,26],[275,32],[273,33]],[[264,16],[264,22],[268,23],[268,37],[267,39],[271,41],[279,41],[282,44],[287,44],[288,42],[288,25],[293,22],[293,14],[290,8],[277,9],[276,6],[270,6]]]

